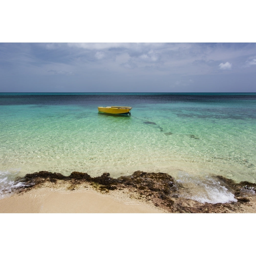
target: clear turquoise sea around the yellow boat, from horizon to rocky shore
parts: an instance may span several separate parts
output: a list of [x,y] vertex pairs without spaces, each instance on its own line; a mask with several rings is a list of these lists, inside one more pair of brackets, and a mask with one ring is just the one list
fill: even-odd
[[[129,115],[98,106],[131,106]],[[163,172],[199,202],[236,201],[216,175],[256,182],[256,93],[0,93],[0,198],[42,170]]]

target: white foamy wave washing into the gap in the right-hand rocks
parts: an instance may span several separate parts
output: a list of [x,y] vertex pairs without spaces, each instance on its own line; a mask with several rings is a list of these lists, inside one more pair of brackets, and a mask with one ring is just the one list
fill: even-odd
[[203,204],[237,202],[235,196],[212,177],[207,176],[201,179],[185,172],[180,172],[177,182],[182,186],[180,195],[184,198],[192,199]]

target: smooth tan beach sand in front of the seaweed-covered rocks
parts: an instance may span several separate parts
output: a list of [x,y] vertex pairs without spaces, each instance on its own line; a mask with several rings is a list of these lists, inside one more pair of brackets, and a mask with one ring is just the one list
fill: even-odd
[[[0,213],[162,213],[153,205],[115,191],[109,195],[90,188],[63,191],[48,186],[0,200]],[[63,185],[63,184],[62,184]]]

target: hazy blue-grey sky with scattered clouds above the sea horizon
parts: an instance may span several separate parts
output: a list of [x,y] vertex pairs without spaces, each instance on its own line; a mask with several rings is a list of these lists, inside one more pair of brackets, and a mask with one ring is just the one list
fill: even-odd
[[1,92],[256,92],[255,43],[1,43]]

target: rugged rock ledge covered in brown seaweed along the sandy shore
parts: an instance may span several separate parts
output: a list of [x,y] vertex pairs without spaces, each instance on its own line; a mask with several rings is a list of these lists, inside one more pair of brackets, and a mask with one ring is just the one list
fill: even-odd
[[164,209],[167,212],[177,213],[225,213],[240,210],[241,204],[248,204],[249,197],[255,196],[248,191],[255,191],[256,184],[250,182],[235,183],[231,179],[216,176],[222,186],[225,186],[235,195],[238,202],[225,204],[202,204],[200,202],[186,199],[180,196],[179,190],[183,189],[175,179],[166,173],[146,173],[136,171],[129,176],[119,178],[110,177],[109,173],[103,173],[99,177],[91,177],[87,173],[72,172],[69,176],[60,173],[47,171],[26,174],[17,180],[27,184],[28,187],[16,189],[17,192],[28,191],[33,187],[40,186],[44,182],[57,183],[58,180],[69,182],[68,190],[75,190],[79,184],[84,187],[89,184],[101,193],[108,193],[110,190],[128,189],[129,195],[144,201],[150,201],[153,205]]

